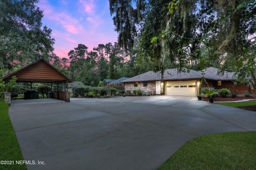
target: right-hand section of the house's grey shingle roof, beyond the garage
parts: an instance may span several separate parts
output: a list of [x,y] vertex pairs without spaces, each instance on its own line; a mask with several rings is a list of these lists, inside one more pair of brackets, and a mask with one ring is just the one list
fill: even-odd
[[223,74],[220,70],[214,67],[208,67],[207,69],[201,70],[206,79],[211,80],[234,80],[234,72],[225,71]]

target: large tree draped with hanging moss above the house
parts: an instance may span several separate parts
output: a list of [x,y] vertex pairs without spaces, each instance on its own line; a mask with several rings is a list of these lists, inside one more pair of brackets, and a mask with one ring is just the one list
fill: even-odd
[[[183,66],[198,64],[202,47],[213,52],[210,60],[218,65],[236,61],[251,46],[248,37],[255,36],[255,1],[137,0],[109,4],[119,36],[124,35],[127,42],[138,39],[140,57],[154,61],[155,71],[166,67],[182,71]],[[139,10],[141,6],[146,7]],[[141,15],[145,17],[140,19]],[[134,26],[137,29],[131,29]],[[133,35],[138,36],[130,36],[135,30]],[[126,46],[122,41],[118,44]]]

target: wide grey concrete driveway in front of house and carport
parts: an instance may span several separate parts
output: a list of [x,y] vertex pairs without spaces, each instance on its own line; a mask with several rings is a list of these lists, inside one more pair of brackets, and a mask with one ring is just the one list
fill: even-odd
[[194,97],[13,101],[9,114],[28,169],[156,169],[204,134],[255,131],[256,113]]

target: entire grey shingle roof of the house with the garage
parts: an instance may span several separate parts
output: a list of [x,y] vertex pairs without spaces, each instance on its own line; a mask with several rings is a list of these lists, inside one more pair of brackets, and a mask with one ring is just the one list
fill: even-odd
[[[185,69],[186,70],[186,69]],[[204,73],[204,74],[203,74]],[[209,67],[201,71],[190,70],[189,72],[178,72],[177,69],[166,69],[164,71],[163,80],[189,80],[200,79],[203,77],[211,80],[234,80],[234,73],[225,72],[223,75],[219,74],[219,70],[214,67]],[[122,82],[136,82],[136,81],[159,81],[161,80],[161,72],[148,71],[136,75],[130,79],[126,79]]]

